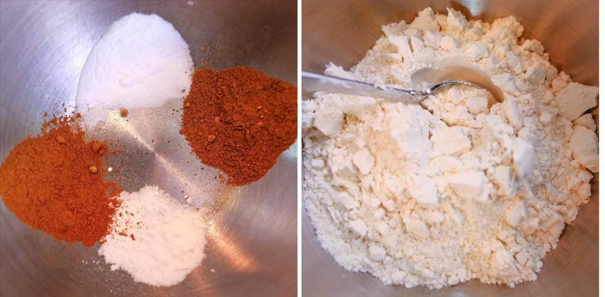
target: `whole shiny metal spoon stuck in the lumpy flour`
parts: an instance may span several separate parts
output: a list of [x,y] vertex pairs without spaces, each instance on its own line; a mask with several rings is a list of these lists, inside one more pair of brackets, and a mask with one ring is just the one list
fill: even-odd
[[[437,91],[437,89],[442,88],[443,86],[466,85],[473,86],[474,88],[486,89],[489,92],[493,91],[492,97],[494,98],[490,99],[489,105],[494,103],[494,101],[502,102],[502,91],[494,86],[489,78],[483,77],[483,75],[479,72],[475,73],[474,69],[472,68],[425,69],[420,69],[422,72],[419,75],[414,75],[415,73],[412,75],[414,79],[419,79],[416,81],[416,83],[413,81],[413,85],[422,85],[420,81],[424,81],[424,85],[426,85],[426,81],[434,81],[435,79],[438,79],[439,82],[433,83],[433,85],[427,86],[426,88],[400,89],[391,86],[377,86],[371,83],[365,83],[364,81],[350,80],[347,78],[302,71],[302,88],[308,91],[323,91],[329,93],[385,98],[404,103],[419,103],[427,98],[428,95],[433,94],[433,92]],[[459,77],[456,77],[456,75]],[[454,77],[456,77],[456,79],[454,79]],[[445,80],[440,80],[441,78],[445,78]],[[465,78],[467,80],[458,78]],[[496,94],[494,94],[494,92]]]

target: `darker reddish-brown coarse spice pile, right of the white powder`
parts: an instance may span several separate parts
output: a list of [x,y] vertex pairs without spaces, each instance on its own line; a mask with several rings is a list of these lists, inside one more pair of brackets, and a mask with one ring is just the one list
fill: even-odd
[[253,68],[195,70],[183,107],[180,133],[227,184],[260,179],[296,139],[296,87]]

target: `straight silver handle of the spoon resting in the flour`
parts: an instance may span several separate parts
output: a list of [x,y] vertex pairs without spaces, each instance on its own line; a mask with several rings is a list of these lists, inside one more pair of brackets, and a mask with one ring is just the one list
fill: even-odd
[[419,103],[424,99],[419,92],[391,88],[389,86],[378,87],[363,81],[349,80],[330,75],[322,75],[302,71],[302,88],[307,91],[323,91],[328,93],[339,93],[356,96],[377,97],[404,103]]

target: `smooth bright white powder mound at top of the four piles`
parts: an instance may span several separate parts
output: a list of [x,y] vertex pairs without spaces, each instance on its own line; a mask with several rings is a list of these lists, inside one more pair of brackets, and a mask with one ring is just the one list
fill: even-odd
[[77,109],[87,126],[108,110],[162,106],[189,92],[189,46],[155,14],[131,13],[114,22],[94,45],[80,75]]

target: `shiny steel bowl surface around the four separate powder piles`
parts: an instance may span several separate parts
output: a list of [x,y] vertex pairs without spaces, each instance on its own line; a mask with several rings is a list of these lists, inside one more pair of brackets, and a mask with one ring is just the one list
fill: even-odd
[[[92,46],[112,22],[134,11],[171,22],[198,67],[252,66],[296,83],[296,1],[1,1],[0,159],[25,136],[38,133],[42,113],[74,103]],[[179,135],[179,109],[180,102],[172,101],[131,110],[125,119],[113,115],[94,136],[122,150],[111,165],[113,174],[122,170],[119,182],[125,190],[156,184],[177,199],[197,197],[195,204],[211,208],[201,266],[177,286],[134,283],[127,273],[110,271],[97,255],[98,244],[88,249],[60,243],[33,231],[0,203],[1,296],[295,293],[295,145],[260,181],[226,187]]]

